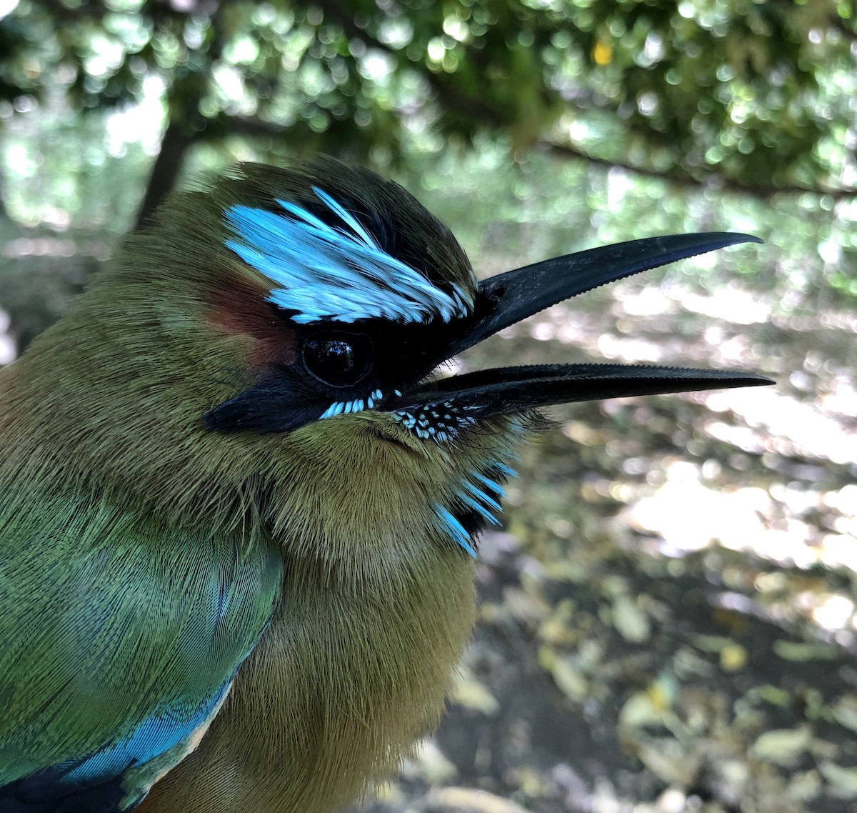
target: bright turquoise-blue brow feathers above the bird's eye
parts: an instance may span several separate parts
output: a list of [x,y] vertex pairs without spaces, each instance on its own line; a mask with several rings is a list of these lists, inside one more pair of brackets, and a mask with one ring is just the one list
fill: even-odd
[[473,303],[452,285],[446,293],[381,249],[357,218],[331,196],[315,195],[341,221],[330,226],[295,203],[286,214],[231,206],[225,218],[237,239],[225,245],[274,284],[270,302],[295,311],[295,322],[355,322],[373,316],[398,322],[444,322],[467,316]]

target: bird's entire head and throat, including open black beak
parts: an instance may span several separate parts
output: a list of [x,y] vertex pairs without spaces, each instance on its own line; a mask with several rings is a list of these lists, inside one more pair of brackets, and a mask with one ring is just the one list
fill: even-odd
[[363,535],[393,549],[429,525],[472,554],[539,407],[768,381],[621,364],[441,377],[438,366],[561,300],[747,241],[758,242],[634,240],[479,281],[398,184],[332,159],[243,165],[171,196],[37,340],[22,362],[48,366],[30,376],[42,383],[27,409],[44,413],[49,443],[70,447],[81,477],[157,494],[169,521],[209,511],[234,525],[227,515],[254,503],[294,545],[341,554]]

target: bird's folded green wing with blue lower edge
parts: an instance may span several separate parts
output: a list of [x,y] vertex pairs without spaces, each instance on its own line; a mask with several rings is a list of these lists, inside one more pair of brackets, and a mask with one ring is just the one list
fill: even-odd
[[219,710],[281,558],[107,502],[20,503],[0,511],[0,810],[105,786],[89,809],[130,809]]

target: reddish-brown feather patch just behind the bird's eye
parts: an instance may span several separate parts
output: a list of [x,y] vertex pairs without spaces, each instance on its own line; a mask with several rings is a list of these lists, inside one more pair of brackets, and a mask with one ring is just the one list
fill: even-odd
[[249,364],[294,364],[297,336],[267,301],[265,286],[237,274],[221,276],[211,291],[210,318],[215,328],[254,339]]

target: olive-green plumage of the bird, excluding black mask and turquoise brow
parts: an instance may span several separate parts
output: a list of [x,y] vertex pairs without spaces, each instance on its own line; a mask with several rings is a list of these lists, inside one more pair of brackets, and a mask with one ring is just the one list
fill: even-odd
[[174,196],[0,371],[0,785],[121,739],[158,702],[200,702],[260,635],[201,747],[141,810],[328,810],[437,725],[474,589],[434,503],[508,453],[506,419],[454,455],[387,413],[283,435],[201,422],[267,341],[219,313],[235,286],[265,297],[224,248],[223,208],[300,201],[310,176],[394,207],[434,273],[473,290],[446,229],[398,187],[338,164],[249,167]]

